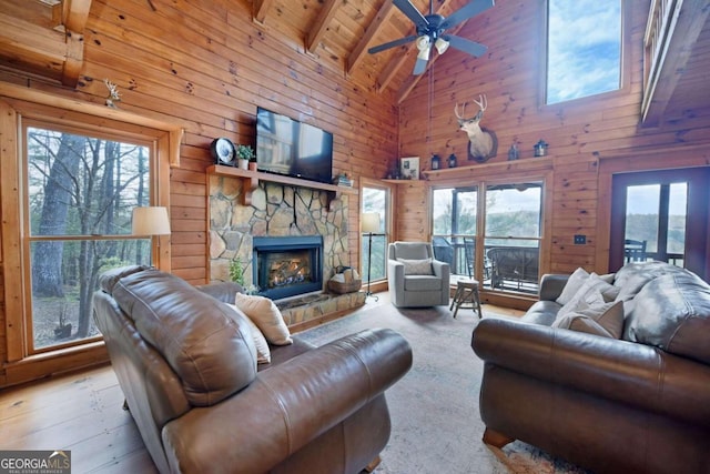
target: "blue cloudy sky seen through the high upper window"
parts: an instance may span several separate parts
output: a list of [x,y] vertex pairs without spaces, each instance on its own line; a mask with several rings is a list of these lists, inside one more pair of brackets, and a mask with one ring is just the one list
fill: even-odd
[[548,0],[547,103],[619,89],[621,0]]

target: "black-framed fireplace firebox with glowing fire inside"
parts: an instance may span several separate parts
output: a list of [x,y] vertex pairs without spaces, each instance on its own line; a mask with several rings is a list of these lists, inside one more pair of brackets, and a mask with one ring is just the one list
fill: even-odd
[[253,280],[272,300],[323,290],[323,236],[253,239]]

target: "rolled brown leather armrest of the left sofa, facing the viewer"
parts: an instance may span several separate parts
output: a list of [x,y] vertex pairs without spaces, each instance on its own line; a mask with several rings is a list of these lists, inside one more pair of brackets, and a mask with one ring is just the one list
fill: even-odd
[[217,405],[169,423],[163,443],[171,470],[207,473],[226,465],[266,472],[379,396],[410,366],[412,347],[388,329],[301,354]]

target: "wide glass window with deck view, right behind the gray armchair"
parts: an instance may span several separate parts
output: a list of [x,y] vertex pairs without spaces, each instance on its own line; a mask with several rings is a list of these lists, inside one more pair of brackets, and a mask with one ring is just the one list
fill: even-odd
[[455,279],[476,278],[491,291],[537,292],[542,182],[434,189],[432,202],[434,254]]

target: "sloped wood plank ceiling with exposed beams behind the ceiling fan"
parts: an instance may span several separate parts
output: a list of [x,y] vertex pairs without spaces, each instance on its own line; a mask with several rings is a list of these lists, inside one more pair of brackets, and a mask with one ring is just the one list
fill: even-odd
[[[423,14],[428,14],[432,8],[434,13],[447,17],[470,0],[410,1]],[[469,21],[486,21],[488,12]],[[357,84],[377,91],[392,88],[397,101],[424,75],[412,74],[418,52],[414,42],[376,54],[367,52],[372,47],[416,33],[412,21],[392,0],[254,0],[254,20],[265,28],[280,30],[307,53],[342,70]],[[429,64],[437,58],[433,51]]]

